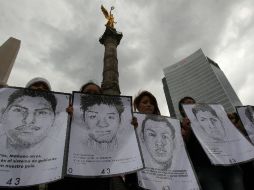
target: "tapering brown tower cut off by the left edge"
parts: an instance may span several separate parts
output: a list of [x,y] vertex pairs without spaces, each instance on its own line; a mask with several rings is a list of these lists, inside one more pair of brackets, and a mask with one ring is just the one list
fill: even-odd
[[11,37],[0,47],[0,85],[7,84],[20,43],[20,40]]

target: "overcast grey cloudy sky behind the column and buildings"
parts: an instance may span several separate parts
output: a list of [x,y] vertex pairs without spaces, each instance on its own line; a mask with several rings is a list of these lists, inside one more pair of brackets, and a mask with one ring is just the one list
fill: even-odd
[[102,81],[105,30],[100,10],[115,6],[122,95],[151,91],[164,115],[163,68],[199,48],[219,63],[243,104],[254,105],[253,0],[0,0],[0,44],[21,40],[10,86],[47,78],[71,92]]

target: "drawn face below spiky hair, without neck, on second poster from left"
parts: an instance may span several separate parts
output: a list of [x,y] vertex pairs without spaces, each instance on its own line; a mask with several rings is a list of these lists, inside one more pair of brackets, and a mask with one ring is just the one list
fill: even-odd
[[112,105],[95,104],[85,111],[84,121],[91,139],[98,143],[110,143],[117,134],[120,116]]

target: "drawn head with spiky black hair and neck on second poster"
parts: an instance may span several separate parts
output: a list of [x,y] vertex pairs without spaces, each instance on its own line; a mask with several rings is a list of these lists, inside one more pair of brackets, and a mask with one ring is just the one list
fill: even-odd
[[124,106],[120,97],[82,95],[80,108],[85,131],[85,144],[99,152],[116,150],[121,114]]

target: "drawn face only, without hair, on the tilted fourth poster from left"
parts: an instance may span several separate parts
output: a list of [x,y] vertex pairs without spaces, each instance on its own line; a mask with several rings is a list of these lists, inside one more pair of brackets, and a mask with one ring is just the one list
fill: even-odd
[[221,121],[211,112],[200,110],[196,113],[196,118],[207,136],[219,140],[225,137],[226,132]]

